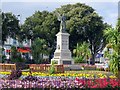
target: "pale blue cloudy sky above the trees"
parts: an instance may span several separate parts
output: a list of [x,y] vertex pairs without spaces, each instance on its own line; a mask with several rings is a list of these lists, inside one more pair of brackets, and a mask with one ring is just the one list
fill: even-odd
[[[6,0],[5,0],[6,1]],[[96,0],[97,1],[97,0]],[[72,2],[56,2],[51,0],[51,2],[15,2],[15,1],[6,1],[2,2],[2,11],[3,12],[12,12],[13,14],[20,15],[20,22],[23,24],[25,18],[31,16],[35,11],[54,11],[56,8],[60,8],[61,5],[66,4],[75,4],[75,3],[85,3],[86,5],[91,6],[95,11],[103,17],[103,21],[115,27],[117,18],[118,18],[118,2],[81,2],[80,0]]]

